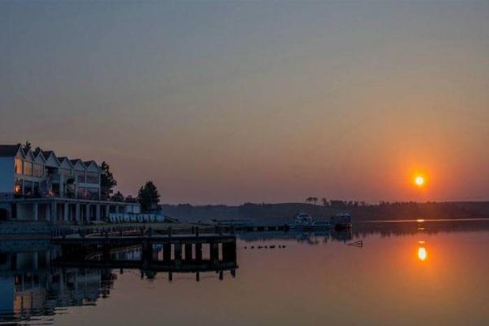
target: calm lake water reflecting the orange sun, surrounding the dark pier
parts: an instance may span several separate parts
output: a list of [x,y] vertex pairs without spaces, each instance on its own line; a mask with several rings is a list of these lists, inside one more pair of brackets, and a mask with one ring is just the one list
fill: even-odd
[[[354,241],[363,246],[349,246]],[[138,269],[53,267],[56,249],[48,243],[1,241],[0,321],[489,325],[488,220],[357,223],[352,234],[254,233],[240,235],[237,245],[234,271],[203,272],[199,281],[195,273],[173,273],[169,281],[168,273],[142,277]]]

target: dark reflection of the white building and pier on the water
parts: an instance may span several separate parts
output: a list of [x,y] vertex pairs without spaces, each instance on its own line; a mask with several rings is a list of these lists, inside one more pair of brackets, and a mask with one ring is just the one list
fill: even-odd
[[[231,255],[233,262],[222,258],[211,261],[204,257],[200,262],[165,260],[159,264],[159,248],[154,250],[156,260],[147,264],[143,261],[141,248],[135,247],[114,249],[110,260],[106,260],[106,256],[90,254],[87,248],[82,249],[82,255],[73,255],[75,259],[67,260],[59,246],[48,243],[44,243],[43,250],[24,245],[9,250],[4,247],[0,251],[0,324],[15,325],[34,317],[53,316],[69,306],[95,305],[98,299],[109,297],[117,280],[114,271],[140,269],[141,276],[146,278],[164,272],[168,281],[175,273],[194,273],[196,281],[200,281],[203,272],[217,273],[223,280],[225,271],[234,277],[238,268],[236,255]],[[83,255],[91,260],[80,260]]]

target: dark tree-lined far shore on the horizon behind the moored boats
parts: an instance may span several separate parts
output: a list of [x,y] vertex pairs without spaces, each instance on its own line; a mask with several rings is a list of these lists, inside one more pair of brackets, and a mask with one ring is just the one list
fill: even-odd
[[313,218],[329,218],[348,211],[352,219],[402,220],[411,218],[488,218],[489,201],[386,202],[329,201],[328,206],[309,203],[253,204],[239,206],[163,204],[163,213],[182,222],[212,220],[251,220],[290,222],[299,211]]

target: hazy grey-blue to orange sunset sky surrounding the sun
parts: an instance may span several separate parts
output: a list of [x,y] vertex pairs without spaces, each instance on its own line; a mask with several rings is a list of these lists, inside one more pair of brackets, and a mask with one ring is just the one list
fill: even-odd
[[489,1],[1,1],[0,113],[164,203],[487,200]]

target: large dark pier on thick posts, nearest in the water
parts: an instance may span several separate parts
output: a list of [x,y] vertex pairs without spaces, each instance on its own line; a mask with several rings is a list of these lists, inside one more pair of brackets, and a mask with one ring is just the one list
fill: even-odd
[[[140,269],[142,275],[148,277],[168,272],[170,281],[173,273],[196,273],[199,281],[200,272],[204,271],[219,273],[219,279],[224,277],[224,271],[231,271],[234,277],[238,268],[233,235],[73,235],[51,241],[61,247],[61,257],[52,262],[57,267]],[[124,248],[140,250],[138,259],[117,259],[117,253]]]

